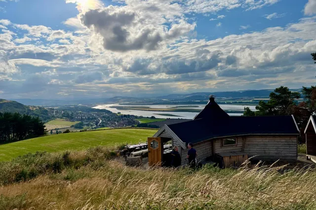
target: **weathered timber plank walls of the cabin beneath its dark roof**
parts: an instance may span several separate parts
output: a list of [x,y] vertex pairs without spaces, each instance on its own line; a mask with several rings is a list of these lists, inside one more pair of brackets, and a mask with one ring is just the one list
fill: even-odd
[[[188,148],[183,149],[180,143],[174,140],[167,131],[163,131],[159,137],[171,138],[172,146],[178,146],[179,153],[182,159],[182,165],[186,164],[186,157],[188,154]],[[243,144],[244,138],[244,146]],[[254,160],[263,161],[276,161],[278,159],[282,161],[293,162],[297,160],[297,136],[292,135],[279,135],[279,136],[244,136],[237,137],[237,145],[222,146],[221,139],[214,139],[214,153],[242,151],[248,154],[249,157],[253,157]],[[315,135],[316,138],[316,135]],[[316,149],[316,139],[315,148]],[[212,156],[212,140],[196,143],[194,148],[197,150],[197,161],[203,160]],[[316,152],[316,151],[315,151]]]

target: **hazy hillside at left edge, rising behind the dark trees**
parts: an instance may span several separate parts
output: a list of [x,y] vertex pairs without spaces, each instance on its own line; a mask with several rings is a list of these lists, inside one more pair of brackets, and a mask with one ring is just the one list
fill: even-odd
[[0,112],[19,112],[20,114],[28,114],[35,117],[40,117],[41,120],[49,120],[47,109],[40,106],[28,106],[15,101],[0,99]]

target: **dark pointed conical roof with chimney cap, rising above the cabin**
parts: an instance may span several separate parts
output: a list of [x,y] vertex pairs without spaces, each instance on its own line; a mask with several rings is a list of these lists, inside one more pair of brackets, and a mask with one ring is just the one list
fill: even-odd
[[229,115],[215,102],[213,96],[209,97],[209,102],[204,107],[199,114],[194,118],[197,119],[209,119],[209,120],[219,120],[227,118]]

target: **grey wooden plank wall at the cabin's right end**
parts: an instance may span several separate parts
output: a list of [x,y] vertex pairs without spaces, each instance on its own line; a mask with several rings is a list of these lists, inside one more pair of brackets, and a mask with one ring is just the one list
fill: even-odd
[[244,151],[254,160],[296,161],[297,136],[246,136]]

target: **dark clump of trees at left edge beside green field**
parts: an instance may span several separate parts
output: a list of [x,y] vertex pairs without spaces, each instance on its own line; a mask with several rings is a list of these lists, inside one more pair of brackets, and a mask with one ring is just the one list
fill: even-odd
[[0,143],[36,138],[46,134],[39,117],[0,112]]

